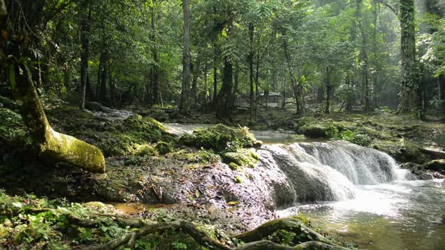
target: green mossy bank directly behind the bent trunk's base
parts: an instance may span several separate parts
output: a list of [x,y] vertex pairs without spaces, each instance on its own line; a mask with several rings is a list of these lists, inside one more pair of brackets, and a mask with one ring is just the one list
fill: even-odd
[[56,131],[61,131],[102,150],[104,156],[129,156],[138,144],[177,141],[152,117],[133,115],[123,121],[104,121],[74,106],[61,105],[49,110]]

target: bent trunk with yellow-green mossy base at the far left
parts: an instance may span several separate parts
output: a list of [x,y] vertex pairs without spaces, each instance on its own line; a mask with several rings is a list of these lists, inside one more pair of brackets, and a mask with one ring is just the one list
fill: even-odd
[[[47,160],[71,163],[90,172],[105,172],[104,156],[97,147],[70,135],[57,133],[49,126],[31,72],[26,66],[29,43],[25,41],[33,39],[26,33],[10,35],[23,31],[17,28],[17,23],[8,19],[11,16],[15,15],[8,15],[5,2],[0,0],[0,29],[3,34],[0,38],[0,64],[38,153]],[[13,30],[13,27],[17,29]]]

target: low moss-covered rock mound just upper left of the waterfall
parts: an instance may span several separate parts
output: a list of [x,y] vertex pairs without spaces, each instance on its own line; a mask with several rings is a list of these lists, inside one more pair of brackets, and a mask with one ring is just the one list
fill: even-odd
[[223,124],[195,130],[192,135],[183,135],[179,140],[187,146],[216,151],[236,151],[243,147],[253,147],[255,141],[249,128],[231,128]]

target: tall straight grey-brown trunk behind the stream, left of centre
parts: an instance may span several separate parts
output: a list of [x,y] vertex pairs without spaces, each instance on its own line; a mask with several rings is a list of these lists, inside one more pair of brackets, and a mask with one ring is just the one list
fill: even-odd
[[190,105],[190,8],[188,0],[182,0],[184,11],[184,53],[182,61],[182,91],[181,101],[179,101],[179,113],[186,115]]

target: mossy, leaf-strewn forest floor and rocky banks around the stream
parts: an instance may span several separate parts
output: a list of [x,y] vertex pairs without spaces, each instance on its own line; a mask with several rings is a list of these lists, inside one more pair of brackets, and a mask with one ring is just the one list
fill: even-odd
[[[198,140],[193,141],[191,138],[179,140],[156,119],[213,124],[216,122],[213,115],[192,113],[188,117],[172,119],[168,115],[170,110],[163,108],[131,109],[139,115],[132,115],[126,110],[91,113],[60,100],[44,100],[49,122],[56,131],[94,144],[106,156],[106,174],[89,174],[62,163],[42,161],[35,156],[16,107],[2,101],[0,187],[7,194],[1,193],[2,201],[6,202],[0,202],[0,222],[3,222],[0,224],[0,239],[5,239],[0,240],[0,247],[3,245],[10,249],[23,247],[23,244],[54,249],[62,245],[85,247],[127,237],[131,231],[140,230],[134,224],[122,226],[115,217],[107,220],[106,216],[92,215],[93,210],[106,215],[125,210],[126,216],[147,222],[186,220],[197,225],[216,225],[209,229],[213,238],[229,247],[236,247],[239,241],[228,235],[243,233],[276,219],[273,210],[283,205],[273,198],[280,197],[280,194],[265,195],[264,188],[280,183],[264,178],[267,176],[264,167],[252,167],[257,163],[257,156],[253,149],[243,147],[258,143],[238,125],[255,130],[291,131],[298,137],[349,140],[386,151],[400,162],[417,163],[419,165],[416,166],[421,168],[435,158],[423,152],[423,148],[443,151],[445,147],[445,124],[421,122],[385,111],[366,115],[312,112],[306,117],[297,117],[292,110],[269,109],[261,110],[256,122],[248,122],[247,113],[238,113],[232,124],[236,125],[235,128],[218,126],[202,133],[201,138],[192,138]],[[221,135],[230,135],[223,137],[224,143],[236,142],[241,146],[233,152],[221,149]],[[210,142],[204,144],[204,139]],[[243,158],[245,155],[248,157]],[[227,156],[233,157],[232,163],[238,164],[223,163],[227,162]],[[261,176],[265,183],[255,183],[250,176]],[[436,176],[440,174],[436,173]],[[31,192],[47,199],[30,196]],[[10,197],[11,194],[19,194],[19,197]],[[60,200],[60,197],[68,201]],[[103,203],[88,203],[90,201],[113,203],[121,212]],[[155,205],[143,206],[141,203]],[[73,219],[72,215],[76,218]],[[92,218],[95,223],[79,225],[83,220],[78,217]],[[120,218],[120,215],[116,217]],[[300,217],[300,221],[309,225],[304,217]],[[169,226],[172,227],[171,224]],[[42,227],[44,231],[38,229]],[[180,226],[178,228],[179,231],[184,230]],[[196,239],[188,237],[190,233],[175,235],[174,231],[177,229],[152,232],[149,237],[138,238],[139,247],[136,249],[145,249],[147,245],[156,245],[157,249],[197,249],[199,244]],[[286,244],[292,245],[289,239],[302,242],[301,237],[310,235],[289,231],[278,234],[275,232],[266,238],[278,243],[286,240]],[[331,240],[339,242],[336,238]]]

